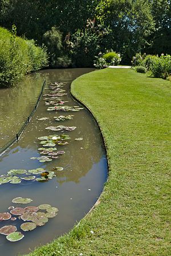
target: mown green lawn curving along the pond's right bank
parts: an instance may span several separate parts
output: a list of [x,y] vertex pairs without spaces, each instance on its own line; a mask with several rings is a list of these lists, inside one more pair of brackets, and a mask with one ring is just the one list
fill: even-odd
[[170,255],[170,88],[112,68],[72,83],[103,132],[109,178],[100,204],[79,226],[30,255]]

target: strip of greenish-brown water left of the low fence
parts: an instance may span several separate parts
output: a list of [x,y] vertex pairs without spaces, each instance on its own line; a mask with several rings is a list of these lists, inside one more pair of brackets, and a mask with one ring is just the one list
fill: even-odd
[[38,99],[42,83],[43,77],[37,73],[27,75],[16,87],[0,90],[1,146],[17,133],[27,116],[30,115]]

